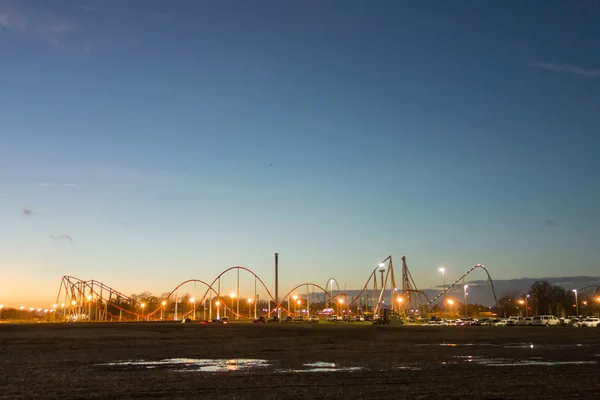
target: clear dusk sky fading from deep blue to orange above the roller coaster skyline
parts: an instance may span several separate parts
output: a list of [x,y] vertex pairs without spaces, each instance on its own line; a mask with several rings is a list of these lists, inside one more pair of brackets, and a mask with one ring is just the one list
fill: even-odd
[[0,0],[0,49],[0,303],[599,271],[597,1]]

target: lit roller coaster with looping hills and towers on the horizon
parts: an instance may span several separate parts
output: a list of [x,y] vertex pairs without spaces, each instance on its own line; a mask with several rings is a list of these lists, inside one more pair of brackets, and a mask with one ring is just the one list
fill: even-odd
[[[177,319],[178,290],[186,284],[194,283],[194,285],[201,284],[205,287],[204,294],[199,299],[190,299],[192,308],[181,313],[181,315],[179,315],[180,318],[188,318],[191,315],[195,316],[197,310],[201,307],[205,315],[207,303],[209,309],[208,319],[210,320],[213,319],[213,314],[215,314],[214,316],[216,316],[217,320],[220,319],[221,309],[225,313],[224,315],[229,314],[236,319],[256,319],[259,314],[266,317],[281,317],[282,311],[291,315],[293,313],[292,308],[295,307],[296,301],[298,301],[298,296],[295,293],[303,293],[304,290],[306,298],[303,301],[306,303],[306,310],[310,310],[311,296],[309,290],[311,288],[313,294],[315,289],[318,289],[320,292],[322,291],[325,294],[325,302],[330,305],[344,304],[344,307],[348,310],[352,310],[354,307],[357,312],[361,310],[360,306],[364,305],[373,315],[379,313],[383,314],[384,309],[391,309],[400,316],[406,316],[407,310],[420,310],[422,313],[430,312],[441,296],[448,292],[453,286],[457,285],[468,274],[479,268],[486,272],[492,286],[494,300],[496,300],[492,278],[489,272],[481,264],[475,265],[469,269],[453,284],[445,287],[441,293],[430,300],[423,291],[417,288],[410,270],[408,269],[408,265],[406,264],[406,257],[404,255],[400,256],[402,264],[401,287],[396,285],[392,256],[388,256],[381,264],[373,269],[360,293],[357,296],[354,296],[349,303],[344,303],[346,296],[344,293],[340,292],[339,286],[338,293],[335,296],[333,295],[333,283],[335,282],[337,285],[337,281],[334,278],[330,278],[325,287],[311,282],[301,283],[288,291],[280,300],[278,287],[278,256],[279,255],[276,253],[275,296],[271,294],[271,291],[264,281],[253,271],[242,266],[234,266],[221,272],[211,283],[199,279],[190,279],[180,283],[169,292],[166,297],[160,299],[160,302],[155,304],[154,309],[152,310],[146,309],[145,303],[138,304],[139,307],[136,307],[136,304],[134,304],[135,300],[131,296],[127,296],[102,282],[95,280],[85,281],[68,275],[63,276],[61,280],[56,303],[60,304],[62,308],[62,317],[64,317],[65,320],[124,321],[132,319],[139,320],[140,318],[142,320],[162,320],[165,306],[171,302],[175,302],[174,319]],[[237,292],[225,294],[221,291],[221,280],[223,276],[229,272],[237,274]],[[247,300],[247,315],[240,314],[240,272],[249,274],[254,281],[254,297],[249,297]],[[328,285],[331,286],[329,291],[327,290]],[[266,310],[261,310],[261,312],[258,310],[259,295],[257,289],[259,287],[262,287],[263,293],[267,294],[266,300],[268,300],[268,308]],[[293,301],[292,298],[294,299]],[[365,298],[367,299],[366,302]],[[234,299],[237,299],[236,310],[234,310]],[[371,299],[371,301],[369,301],[369,299]],[[391,301],[391,304],[386,304],[386,299]],[[271,305],[273,305],[273,307],[271,307]],[[253,313],[251,312],[252,306],[254,307]],[[214,313],[213,307],[216,308],[216,312]],[[61,315],[60,310],[58,315]],[[82,316],[85,316],[85,318]]]

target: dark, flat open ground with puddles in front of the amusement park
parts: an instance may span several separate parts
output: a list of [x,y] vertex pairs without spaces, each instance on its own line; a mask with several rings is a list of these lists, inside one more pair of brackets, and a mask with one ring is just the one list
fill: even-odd
[[1,398],[592,399],[599,362],[594,328],[0,325]]

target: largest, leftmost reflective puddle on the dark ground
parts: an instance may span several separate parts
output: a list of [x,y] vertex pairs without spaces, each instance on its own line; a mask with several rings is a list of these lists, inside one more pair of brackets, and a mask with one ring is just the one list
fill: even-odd
[[252,368],[268,367],[267,360],[256,359],[196,359],[196,358],[168,358],[158,361],[118,361],[113,363],[99,364],[99,366],[116,367],[123,369],[145,368],[145,369],[173,369],[177,372],[229,372],[242,371]]

